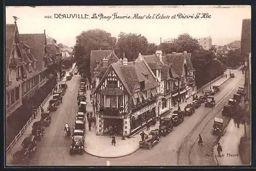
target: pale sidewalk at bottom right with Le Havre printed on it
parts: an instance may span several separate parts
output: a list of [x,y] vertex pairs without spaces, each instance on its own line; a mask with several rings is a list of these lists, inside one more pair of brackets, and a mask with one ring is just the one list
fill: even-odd
[[244,135],[244,126],[240,128],[234,125],[233,119],[230,120],[225,135],[219,140],[222,146],[221,157],[218,156],[217,145],[214,148],[214,154],[218,165],[243,165],[239,154],[240,138]]

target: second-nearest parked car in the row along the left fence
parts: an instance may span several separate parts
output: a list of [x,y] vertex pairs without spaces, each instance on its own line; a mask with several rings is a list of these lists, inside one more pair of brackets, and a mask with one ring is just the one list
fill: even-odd
[[34,135],[30,135],[26,137],[22,142],[24,155],[30,157],[36,150],[36,137]]

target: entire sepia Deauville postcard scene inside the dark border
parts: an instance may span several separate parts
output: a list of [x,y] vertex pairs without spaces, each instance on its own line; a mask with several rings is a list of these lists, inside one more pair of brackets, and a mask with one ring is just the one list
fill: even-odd
[[6,6],[6,166],[251,164],[250,6]]

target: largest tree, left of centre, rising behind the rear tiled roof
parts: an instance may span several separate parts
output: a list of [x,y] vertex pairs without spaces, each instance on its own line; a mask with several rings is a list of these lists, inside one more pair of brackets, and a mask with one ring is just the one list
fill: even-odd
[[110,50],[115,48],[116,38],[104,30],[94,29],[83,31],[76,37],[74,46],[75,61],[79,72],[90,73],[90,53],[92,50]]

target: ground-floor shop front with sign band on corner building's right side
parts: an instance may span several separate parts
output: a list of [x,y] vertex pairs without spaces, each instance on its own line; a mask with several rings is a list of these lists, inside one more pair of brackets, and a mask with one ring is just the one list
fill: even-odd
[[131,134],[138,131],[146,125],[147,121],[151,121],[153,116],[156,116],[157,103],[148,105],[131,115]]

